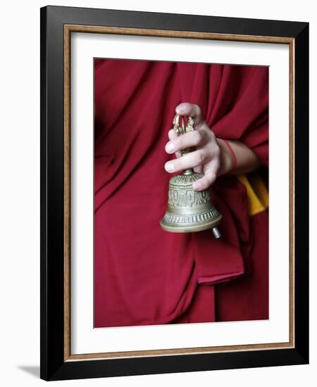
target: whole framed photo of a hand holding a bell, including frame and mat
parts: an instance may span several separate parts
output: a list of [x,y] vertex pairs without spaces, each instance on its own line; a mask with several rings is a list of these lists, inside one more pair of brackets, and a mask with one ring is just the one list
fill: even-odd
[[309,362],[308,23],[41,9],[41,378]]

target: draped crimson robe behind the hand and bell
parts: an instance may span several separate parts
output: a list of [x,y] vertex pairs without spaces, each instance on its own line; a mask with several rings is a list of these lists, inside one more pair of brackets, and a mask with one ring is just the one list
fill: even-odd
[[268,212],[249,217],[236,177],[210,189],[221,239],[159,221],[180,102],[268,166],[268,68],[95,59],[94,101],[94,326],[267,319]]

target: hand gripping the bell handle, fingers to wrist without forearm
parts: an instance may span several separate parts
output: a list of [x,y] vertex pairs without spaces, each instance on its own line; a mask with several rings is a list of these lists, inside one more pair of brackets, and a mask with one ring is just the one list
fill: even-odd
[[[170,141],[166,144],[167,153],[176,153],[176,159],[165,165],[167,172],[178,172],[193,168],[194,172],[203,173],[204,177],[193,183],[195,191],[208,189],[215,182],[218,175],[222,175],[232,168],[232,158],[228,151],[221,152],[223,144],[216,139],[215,134],[206,124],[201,109],[192,103],[180,103],[175,108],[179,115],[190,115],[194,119],[194,131],[178,136],[174,129],[168,132]],[[183,156],[180,151],[195,147],[196,150]]]

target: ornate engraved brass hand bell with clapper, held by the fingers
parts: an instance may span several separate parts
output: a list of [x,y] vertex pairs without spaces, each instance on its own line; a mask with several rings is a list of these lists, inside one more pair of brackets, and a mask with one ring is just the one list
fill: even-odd
[[[187,125],[182,117],[182,126],[179,125],[180,115],[176,114],[173,128],[178,135],[194,130],[194,120],[187,117]],[[181,154],[190,152],[185,149]],[[213,236],[220,238],[217,228],[222,215],[211,203],[209,191],[194,191],[192,183],[203,177],[201,173],[192,169],[174,176],[169,182],[168,209],[160,224],[162,229],[170,232],[196,232],[212,229]]]

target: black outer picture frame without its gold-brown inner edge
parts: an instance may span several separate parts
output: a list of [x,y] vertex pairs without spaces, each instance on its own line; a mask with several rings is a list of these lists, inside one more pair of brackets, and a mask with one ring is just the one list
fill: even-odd
[[[41,371],[44,380],[269,367],[309,362],[309,23],[46,6],[41,8]],[[292,40],[294,47],[294,348],[66,359],[64,293],[65,25]],[[229,37],[230,39],[230,37]],[[297,157],[298,156],[298,157]],[[298,259],[297,259],[298,258]]]

